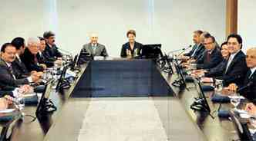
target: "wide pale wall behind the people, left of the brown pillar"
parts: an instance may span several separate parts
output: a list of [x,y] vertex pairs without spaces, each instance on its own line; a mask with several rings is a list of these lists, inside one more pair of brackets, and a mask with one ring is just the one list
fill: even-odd
[[[126,31],[136,30],[136,41],[161,43],[164,51],[193,44],[192,32],[210,31],[219,43],[225,37],[223,0],[4,0],[0,11],[0,44],[15,36],[28,38],[55,31],[60,48],[76,54],[99,34],[110,56],[120,56]],[[5,7],[7,5],[7,7]],[[49,20],[50,19],[50,20]]]

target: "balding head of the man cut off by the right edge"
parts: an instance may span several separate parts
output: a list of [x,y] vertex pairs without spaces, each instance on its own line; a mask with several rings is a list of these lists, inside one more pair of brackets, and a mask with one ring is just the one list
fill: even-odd
[[256,67],[256,47],[248,49],[246,52],[247,67]]

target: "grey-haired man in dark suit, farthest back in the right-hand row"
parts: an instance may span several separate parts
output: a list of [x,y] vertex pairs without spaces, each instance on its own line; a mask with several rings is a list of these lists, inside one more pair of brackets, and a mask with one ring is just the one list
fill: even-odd
[[193,57],[194,59],[197,59],[198,55],[202,54],[202,51],[204,52],[204,45],[200,41],[200,35],[202,33],[203,31],[200,31],[200,30],[194,31],[194,35],[193,35],[194,46],[192,50],[184,54],[184,56]]

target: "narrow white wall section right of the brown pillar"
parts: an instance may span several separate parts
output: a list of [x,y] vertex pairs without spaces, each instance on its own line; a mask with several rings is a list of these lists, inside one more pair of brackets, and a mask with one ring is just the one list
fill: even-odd
[[256,1],[238,1],[238,34],[244,40],[243,51],[256,47]]

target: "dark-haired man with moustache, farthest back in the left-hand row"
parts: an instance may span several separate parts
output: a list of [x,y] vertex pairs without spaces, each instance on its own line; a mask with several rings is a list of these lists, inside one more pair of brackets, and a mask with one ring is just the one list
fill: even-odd
[[43,38],[46,40],[46,48],[44,51],[45,57],[50,61],[56,61],[61,59],[62,54],[59,52],[55,44],[55,34],[52,31],[45,31]]

